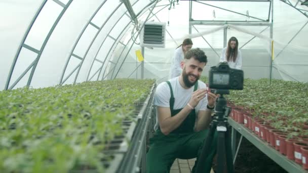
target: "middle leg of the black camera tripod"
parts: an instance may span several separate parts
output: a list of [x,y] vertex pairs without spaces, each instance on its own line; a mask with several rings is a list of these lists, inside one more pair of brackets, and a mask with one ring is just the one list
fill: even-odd
[[218,168],[217,172],[222,173],[225,163],[225,132],[218,132],[218,139],[217,139],[217,161],[218,161]]

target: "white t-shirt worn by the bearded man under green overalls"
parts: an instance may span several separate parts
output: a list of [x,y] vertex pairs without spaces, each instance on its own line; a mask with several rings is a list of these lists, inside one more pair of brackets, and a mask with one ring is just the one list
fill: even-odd
[[[195,86],[191,86],[190,89],[184,89],[179,81],[179,77],[175,77],[169,80],[173,90],[174,105],[173,109],[184,108],[190,100],[191,94],[194,93]],[[198,80],[198,89],[206,88],[206,84]],[[155,95],[154,95],[154,105],[161,107],[170,107],[170,88],[167,82],[162,82],[157,86]],[[206,105],[208,104],[207,96],[202,99],[199,104],[196,106],[196,113],[199,110],[206,110]],[[158,112],[158,111],[156,111]],[[156,124],[154,126],[155,131],[158,129],[159,121],[158,114],[156,114]]]

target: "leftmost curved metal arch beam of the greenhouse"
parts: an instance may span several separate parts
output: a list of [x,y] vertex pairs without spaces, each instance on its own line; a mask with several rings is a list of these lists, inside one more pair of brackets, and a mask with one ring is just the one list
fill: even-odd
[[6,85],[5,85],[5,90],[8,90],[8,88],[9,88],[10,80],[12,78],[13,70],[14,70],[14,67],[16,65],[17,59],[19,57],[21,48],[23,47],[23,44],[24,44],[24,42],[25,42],[25,40],[26,40],[26,38],[27,38],[36,18],[37,18],[37,16],[41,13],[41,11],[44,8],[46,2],[47,2],[47,0],[44,0],[41,4],[40,8],[38,8],[37,12],[35,13],[34,17],[32,18],[32,21],[31,21],[30,25],[28,26],[28,28],[27,28],[27,30],[26,30],[26,32],[25,32],[25,34],[24,34],[24,36],[23,36],[23,38],[22,38],[22,40],[19,44],[19,47],[17,49],[16,55],[14,57],[14,60],[13,60],[13,63],[12,63],[12,66],[11,66],[11,69],[10,69],[10,72],[9,72],[9,75],[8,75],[8,79],[7,79],[7,82],[6,82]]

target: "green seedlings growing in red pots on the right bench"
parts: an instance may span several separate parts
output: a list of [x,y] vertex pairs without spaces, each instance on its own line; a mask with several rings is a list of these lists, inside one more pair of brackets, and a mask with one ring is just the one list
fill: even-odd
[[302,130],[308,120],[307,83],[273,79],[270,85],[268,79],[245,79],[244,90],[232,90],[226,98],[277,129],[299,131],[297,135],[307,133]]

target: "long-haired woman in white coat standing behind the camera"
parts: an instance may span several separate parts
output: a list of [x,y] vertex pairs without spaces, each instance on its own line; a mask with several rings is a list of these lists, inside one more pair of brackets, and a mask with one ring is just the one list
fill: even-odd
[[242,53],[239,50],[239,41],[231,37],[228,45],[221,52],[220,62],[226,61],[230,68],[242,69]]

